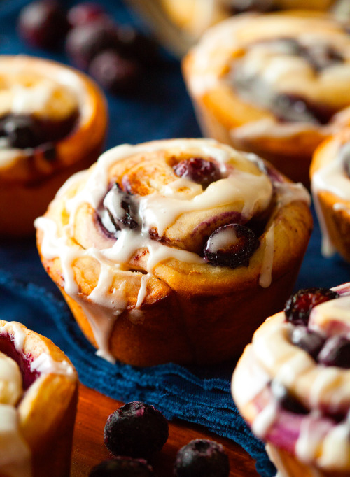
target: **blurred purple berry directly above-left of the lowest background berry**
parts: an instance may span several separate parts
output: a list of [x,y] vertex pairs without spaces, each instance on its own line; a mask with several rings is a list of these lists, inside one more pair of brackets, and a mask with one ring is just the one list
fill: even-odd
[[66,36],[66,53],[81,69],[87,69],[100,52],[118,48],[116,27],[108,20],[79,25]]

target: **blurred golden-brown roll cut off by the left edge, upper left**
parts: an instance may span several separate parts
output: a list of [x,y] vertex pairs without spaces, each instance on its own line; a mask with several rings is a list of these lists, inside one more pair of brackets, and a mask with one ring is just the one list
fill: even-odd
[[104,97],[62,64],[0,57],[0,234],[34,233],[34,219],[72,173],[94,162],[106,132]]

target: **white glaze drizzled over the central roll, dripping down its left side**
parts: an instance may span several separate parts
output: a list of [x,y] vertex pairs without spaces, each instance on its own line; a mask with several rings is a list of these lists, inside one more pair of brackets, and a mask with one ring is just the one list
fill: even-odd
[[[81,204],[90,204],[92,208],[97,209],[105,197],[106,205],[111,208],[112,213],[118,216],[120,203],[116,196],[112,198],[110,194],[106,195],[108,188],[109,168],[118,160],[142,153],[146,155],[149,152],[162,150],[163,148],[174,148],[180,152],[200,148],[205,157],[213,157],[218,162],[223,179],[211,183],[207,190],[202,190],[202,186],[193,185],[193,182],[180,178],[175,180],[174,184],[160,187],[160,192],[154,192],[148,196],[137,198],[139,205],[139,223],[140,229],[122,229],[116,232],[118,238],[110,248],[97,250],[88,248],[83,250],[70,242],[71,234],[74,230],[74,220],[76,211]],[[104,153],[94,166],[94,169],[86,172],[86,179],[83,173],[73,176],[69,181],[69,186],[83,183],[78,188],[76,195],[66,200],[66,210],[69,211],[69,224],[64,226],[62,236],[57,235],[57,226],[49,218],[38,218],[35,225],[43,230],[43,241],[41,252],[43,257],[52,259],[59,257],[62,266],[62,275],[64,277],[64,290],[71,297],[76,299],[85,311],[87,318],[92,326],[94,337],[97,341],[99,354],[112,361],[109,353],[109,334],[113,328],[114,321],[120,313],[123,313],[127,302],[123,298],[122,290],[114,290],[110,270],[111,264],[114,269],[120,269],[121,264],[125,266],[133,257],[137,250],[148,250],[146,260],[147,275],[141,276],[141,284],[137,297],[136,309],[140,308],[147,294],[147,280],[152,276],[153,269],[157,264],[167,259],[179,259],[182,262],[192,264],[202,264],[204,259],[199,255],[181,250],[179,248],[169,247],[152,240],[148,234],[150,227],[156,227],[158,234],[162,236],[164,232],[176,218],[188,211],[201,211],[222,204],[234,203],[237,210],[240,211],[248,220],[255,211],[262,211],[269,205],[272,197],[272,184],[263,173],[248,173],[235,168],[231,173],[226,167],[226,163],[233,160],[236,164],[246,164],[251,160],[256,164],[255,157],[241,154],[232,150],[229,146],[219,145],[212,140],[198,139],[175,139],[172,141],[153,141],[142,145],[121,145]],[[186,189],[186,196],[183,196],[183,190]],[[64,185],[57,193],[57,199],[61,199],[67,190]],[[287,190],[287,189],[286,189]],[[283,196],[286,190],[277,194]],[[288,189],[290,192],[290,189]],[[289,194],[288,192],[288,194]],[[293,194],[292,194],[293,195]],[[291,198],[286,200],[292,200]],[[262,283],[268,286],[271,278],[271,268],[273,262],[273,237],[272,232],[267,234],[267,252],[264,266],[262,269]],[[270,239],[270,240],[269,240]],[[272,242],[272,245],[270,243]],[[271,249],[272,248],[272,252]],[[99,262],[101,267],[99,282],[97,287],[90,293],[87,299],[82,299],[79,295],[78,285],[76,284],[73,272],[73,263],[79,257],[93,257]],[[122,273],[120,269],[118,273]],[[134,273],[134,272],[123,272]],[[114,293],[114,304],[111,313],[110,294]],[[98,305],[98,306],[97,306]],[[96,309],[95,309],[96,308]],[[139,322],[141,314],[135,311],[132,315],[133,322]]]

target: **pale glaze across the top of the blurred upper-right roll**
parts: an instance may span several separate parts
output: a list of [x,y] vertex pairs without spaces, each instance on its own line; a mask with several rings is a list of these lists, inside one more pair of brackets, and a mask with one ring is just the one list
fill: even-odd
[[[281,38],[295,38],[300,45],[316,53],[320,45],[326,47],[329,43],[341,53],[344,61],[315,74],[307,59],[293,54]],[[229,73],[223,74],[230,65]],[[230,91],[232,83],[235,84],[232,76],[236,76],[237,71],[241,71],[244,78],[241,88],[235,85],[235,94],[238,92],[242,101],[260,105],[266,111],[263,118],[250,120],[230,131],[237,141],[247,137],[290,136],[314,129],[330,133],[331,126],[316,124],[313,116],[308,118],[307,112],[301,109],[298,122],[279,122],[269,113],[279,94],[292,94],[314,103],[330,104],[337,111],[349,104],[349,38],[341,29],[336,30],[331,20],[283,15],[256,17],[252,14],[225,20],[207,31],[191,51],[188,87],[193,97],[201,101],[204,94],[218,87]],[[254,87],[247,87],[252,80],[255,80]],[[293,108],[289,110],[292,114]]]

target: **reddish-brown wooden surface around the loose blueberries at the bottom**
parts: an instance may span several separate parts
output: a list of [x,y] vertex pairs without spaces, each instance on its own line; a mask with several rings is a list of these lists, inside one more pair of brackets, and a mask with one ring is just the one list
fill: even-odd
[[[111,458],[104,446],[104,425],[109,414],[123,403],[80,385],[78,414],[73,437],[71,477],[87,477],[94,465]],[[230,458],[230,477],[256,477],[253,459],[235,442],[207,432],[203,427],[180,420],[169,422],[169,439],[155,455],[155,477],[172,477],[176,453],[192,439],[212,439],[225,447]]]

